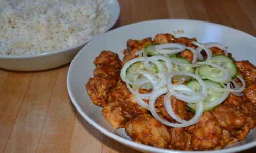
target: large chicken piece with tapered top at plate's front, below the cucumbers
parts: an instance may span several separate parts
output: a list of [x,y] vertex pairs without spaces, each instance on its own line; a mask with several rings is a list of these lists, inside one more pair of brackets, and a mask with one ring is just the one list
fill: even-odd
[[224,145],[218,120],[211,111],[205,111],[192,132],[192,150],[218,150]]

